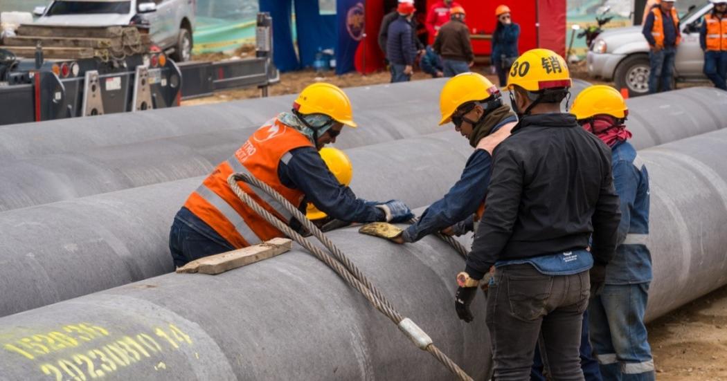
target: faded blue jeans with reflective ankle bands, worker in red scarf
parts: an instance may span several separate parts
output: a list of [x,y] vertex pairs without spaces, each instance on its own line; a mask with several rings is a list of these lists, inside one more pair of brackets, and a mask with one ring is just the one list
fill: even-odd
[[655,380],[643,315],[648,282],[606,284],[589,303],[591,343],[604,380]]

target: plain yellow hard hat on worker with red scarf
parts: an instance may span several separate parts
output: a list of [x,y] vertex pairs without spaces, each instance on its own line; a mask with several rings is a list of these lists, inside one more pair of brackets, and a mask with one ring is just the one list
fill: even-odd
[[593,85],[578,94],[573,101],[571,114],[575,114],[578,120],[603,114],[622,119],[626,118],[628,109],[619,91],[611,86]]

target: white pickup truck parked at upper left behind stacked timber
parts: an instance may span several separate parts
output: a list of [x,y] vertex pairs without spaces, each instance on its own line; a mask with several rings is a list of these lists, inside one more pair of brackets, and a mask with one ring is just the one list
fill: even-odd
[[65,26],[140,25],[175,62],[192,52],[195,0],[54,0],[36,7],[36,24]]

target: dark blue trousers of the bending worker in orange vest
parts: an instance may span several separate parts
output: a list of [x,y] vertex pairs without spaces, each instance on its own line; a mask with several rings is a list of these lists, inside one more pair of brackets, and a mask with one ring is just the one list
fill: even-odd
[[172,230],[169,232],[169,251],[172,253],[174,267],[184,266],[190,261],[207,255],[225,253],[235,249],[231,245],[223,245],[222,242],[221,237],[217,240],[211,239],[196,229],[192,229],[179,218],[174,218]]

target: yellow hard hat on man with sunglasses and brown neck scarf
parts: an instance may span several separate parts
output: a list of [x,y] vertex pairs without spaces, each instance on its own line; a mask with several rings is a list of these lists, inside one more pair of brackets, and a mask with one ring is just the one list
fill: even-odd
[[447,83],[444,83],[439,94],[439,111],[442,114],[439,126],[449,123],[457,107],[492,96],[499,96],[499,89],[483,75],[478,73],[454,75]]

